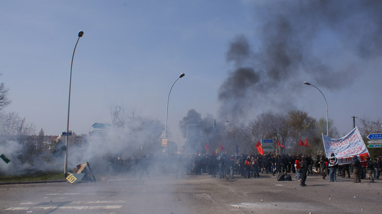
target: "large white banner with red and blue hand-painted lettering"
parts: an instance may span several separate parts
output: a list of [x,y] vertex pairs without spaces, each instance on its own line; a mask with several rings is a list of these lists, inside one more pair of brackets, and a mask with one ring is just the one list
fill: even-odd
[[322,140],[326,157],[329,159],[330,155],[334,153],[339,165],[351,163],[354,155],[359,156],[360,161],[366,161],[366,157],[370,156],[357,127],[345,137],[339,139],[322,134]]

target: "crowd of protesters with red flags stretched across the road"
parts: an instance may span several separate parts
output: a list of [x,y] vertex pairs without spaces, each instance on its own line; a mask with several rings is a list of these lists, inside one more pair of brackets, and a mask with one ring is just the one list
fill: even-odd
[[[375,157],[371,161],[360,162],[360,157],[354,156],[354,161],[350,164],[339,165],[334,154],[326,158],[324,155],[317,155],[314,159],[308,155],[142,155],[132,157],[129,161],[129,169],[133,177],[144,174],[175,174],[176,177],[183,177],[185,174],[209,174],[211,177],[232,179],[235,176],[243,178],[256,178],[261,174],[286,175],[295,173],[296,180],[301,181],[301,186],[306,186],[307,176],[312,174],[322,175],[322,179],[330,182],[337,181],[337,175],[350,178],[353,174],[354,182],[361,182],[361,179],[368,179],[374,182],[379,179],[382,171],[381,157]],[[121,163],[120,161],[118,163]],[[120,168],[120,167],[115,167]]]

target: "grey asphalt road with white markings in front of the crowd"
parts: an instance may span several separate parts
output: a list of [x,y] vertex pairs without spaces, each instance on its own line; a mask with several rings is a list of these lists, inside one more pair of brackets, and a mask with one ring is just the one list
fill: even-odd
[[[97,177],[97,175],[96,175]],[[382,213],[382,180],[299,182],[207,174],[99,175],[96,182],[0,186],[1,213]]]

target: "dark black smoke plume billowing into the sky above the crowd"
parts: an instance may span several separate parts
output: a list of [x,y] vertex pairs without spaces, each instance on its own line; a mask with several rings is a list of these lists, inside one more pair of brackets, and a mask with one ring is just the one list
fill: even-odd
[[290,110],[306,77],[332,90],[351,86],[382,53],[381,11],[377,0],[259,3],[256,37],[237,36],[226,54],[234,69],[219,89],[221,117]]

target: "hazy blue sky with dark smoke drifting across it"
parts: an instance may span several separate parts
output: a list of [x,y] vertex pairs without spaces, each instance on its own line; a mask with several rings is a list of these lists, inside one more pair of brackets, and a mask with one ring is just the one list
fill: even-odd
[[[87,134],[124,105],[177,141],[188,110],[217,123],[300,109],[341,134],[381,118],[380,1],[3,1],[5,108],[46,135]],[[379,35],[379,36],[378,36]],[[357,125],[357,124],[356,124]]]

